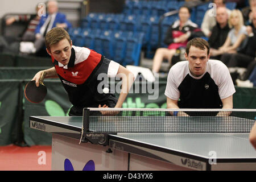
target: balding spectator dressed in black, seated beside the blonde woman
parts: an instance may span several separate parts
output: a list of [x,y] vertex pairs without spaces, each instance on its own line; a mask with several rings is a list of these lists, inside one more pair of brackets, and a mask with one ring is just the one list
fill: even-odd
[[212,29],[212,34],[210,35],[208,43],[210,45],[210,58],[220,60],[220,55],[215,56],[217,49],[225,43],[230,31],[226,7],[218,7],[216,10],[216,15],[217,24]]

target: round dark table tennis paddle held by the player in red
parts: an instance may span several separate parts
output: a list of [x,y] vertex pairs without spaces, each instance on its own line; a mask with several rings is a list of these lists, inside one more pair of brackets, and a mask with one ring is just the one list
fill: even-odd
[[24,95],[28,101],[32,103],[39,103],[44,100],[47,94],[47,88],[43,84],[44,77],[46,72],[42,73],[42,76],[39,80],[39,86],[36,86],[35,80],[29,81],[24,89]]

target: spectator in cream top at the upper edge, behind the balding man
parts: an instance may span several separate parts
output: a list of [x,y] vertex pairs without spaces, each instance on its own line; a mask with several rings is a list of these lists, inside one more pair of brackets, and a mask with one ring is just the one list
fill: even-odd
[[[213,3],[216,4],[216,9],[218,7],[225,7],[225,0],[214,0]],[[209,9],[204,14],[204,19],[201,24],[201,30],[204,32],[204,35],[208,38],[213,32],[213,27],[216,25],[216,18],[214,17],[214,7],[212,9]],[[228,15],[230,15],[231,11],[229,9],[226,9]]]

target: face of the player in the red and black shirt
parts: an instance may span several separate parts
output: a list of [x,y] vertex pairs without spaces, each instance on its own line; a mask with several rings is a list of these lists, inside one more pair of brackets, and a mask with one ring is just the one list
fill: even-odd
[[67,39],[60,40],[59,43],[53,44],[47,49],[49,55],[53,56],[56,61],[63,65],[67,65],[71,56],[72,42],[69,44]]

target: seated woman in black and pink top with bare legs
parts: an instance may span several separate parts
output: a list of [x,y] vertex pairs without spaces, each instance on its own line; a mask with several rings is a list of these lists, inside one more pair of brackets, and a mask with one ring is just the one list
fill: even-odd
[[168,48],[158,48],[153,59],[152,72],[158,73],[163,59],[171,64],[176,49],[186,47],[189,39],[204,36],[197,24],[189,20],[190,11],[188,7],[182,6],[179,9],[179,20],[176,20],[167,30],[164,43]]

